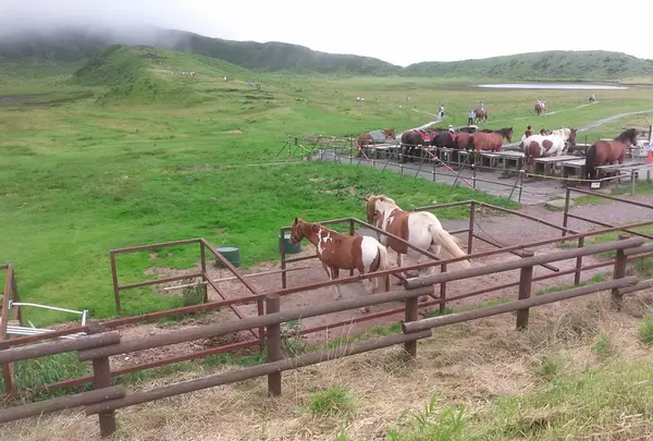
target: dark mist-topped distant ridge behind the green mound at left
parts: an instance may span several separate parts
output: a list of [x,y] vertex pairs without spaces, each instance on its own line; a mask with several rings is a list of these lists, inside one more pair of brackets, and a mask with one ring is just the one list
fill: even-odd
[[374,58],[319,52],[298,45],[231,41],[157,27],[137,30],[67,28],[3,38],[0,40],[0,61],[25,58],[78,61],[114,44],[199,53],[262,72],[385,75],[402,69]]

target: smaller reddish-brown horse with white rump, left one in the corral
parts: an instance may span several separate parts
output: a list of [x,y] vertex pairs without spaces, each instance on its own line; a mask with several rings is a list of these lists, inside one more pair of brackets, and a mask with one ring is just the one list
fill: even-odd
[[[304,217],[295,218],[291,228],[291,243],[298,244],[307,238],[315,245],[318,258],[330,279],[335,280],[341,269],[357,269],[360,274],[385,271],[389,268],[387,250],[379,241],[370,236],[350,236],[330,230],[319,223],[306,222]],[[372,281],[372,279],[374,279]],[[371,293],[379,291],[379,281],[390,289],[390,275],[379,275],[364,280],[372,282]],[[335,299],[342,297],[341,286],[334,285]],[[366,291],[370,292],[366,285]]]

